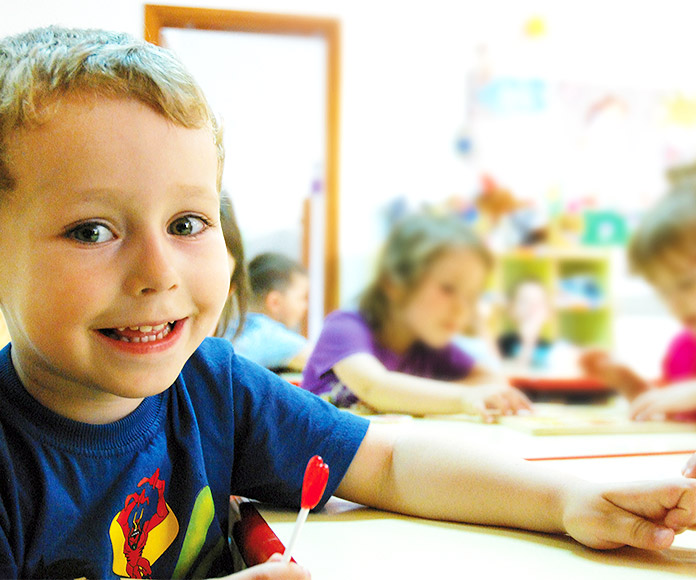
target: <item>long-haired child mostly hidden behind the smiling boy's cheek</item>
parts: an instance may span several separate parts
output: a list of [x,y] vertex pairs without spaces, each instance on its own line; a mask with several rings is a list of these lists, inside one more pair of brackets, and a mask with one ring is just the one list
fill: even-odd
[[244,260],[242,233],[229,194],[220,194],[220,227],[227,247],[230,268],[230,289],[215,328],[215,336],[234,340],[242,332],[249,303],[249,276]]

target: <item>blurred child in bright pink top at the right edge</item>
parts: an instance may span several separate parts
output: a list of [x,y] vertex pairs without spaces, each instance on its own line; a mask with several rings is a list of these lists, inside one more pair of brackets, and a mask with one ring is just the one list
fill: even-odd
[[[658,381],[649,381],[609,353],[581,357],[585,372],[616,388],[636,419],[696,420],[696,189],[681,185],[646,212],[629,245],[631,269],[657,290],[684,325],[663,358]],[[644,337],[637,337],[637,340]],[[669,388],[662,388],[669,387]]]

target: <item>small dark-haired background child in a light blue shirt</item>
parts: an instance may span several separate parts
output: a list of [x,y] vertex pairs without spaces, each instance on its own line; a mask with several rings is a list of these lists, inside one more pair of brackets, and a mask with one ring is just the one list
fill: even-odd
[[311,347],[296,329],[307,313],[307,271],[284,254],[266,252],[249,262],[248,272],[250,308],[233,338],[235,350],[271,370],[302,370]]

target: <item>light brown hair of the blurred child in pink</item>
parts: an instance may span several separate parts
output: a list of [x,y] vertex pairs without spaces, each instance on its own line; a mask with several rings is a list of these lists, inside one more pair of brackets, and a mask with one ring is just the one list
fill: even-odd
[[696,188],[686,181],[646,212],[628,246],[629,266],[649,279],[672,251],[696,255]]

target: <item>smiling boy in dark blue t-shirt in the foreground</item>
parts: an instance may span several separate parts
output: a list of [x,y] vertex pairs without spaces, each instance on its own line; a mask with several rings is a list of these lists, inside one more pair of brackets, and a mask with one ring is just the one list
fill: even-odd
[[[0,144],[0,577],[229,573],[230,493],[297,506],[313,454],[325,499],[595,548],[662,549],[696,523],[694,481],[597,485],[370,425],[206,338],[230,283],[222,147],[167,51],[99,31],[0,41]],[[309,574],[274,560],[234,578]]]

